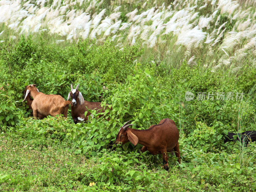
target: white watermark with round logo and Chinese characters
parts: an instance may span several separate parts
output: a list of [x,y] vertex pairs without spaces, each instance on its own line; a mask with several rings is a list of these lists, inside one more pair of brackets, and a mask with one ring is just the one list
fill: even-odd
[[[244,93],[235,93],[235,92],[198,92],[196,100],[242,100]],[[185,93],[185,100],[191,101],[195,98],[195,95],[190,91]]]

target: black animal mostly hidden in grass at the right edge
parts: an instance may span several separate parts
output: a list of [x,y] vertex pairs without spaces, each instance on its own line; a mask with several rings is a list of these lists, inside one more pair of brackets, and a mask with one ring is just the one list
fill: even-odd
[[[237,136],[236,139],[234,139],[235,135]],[[245,145],[247,145],[250,141],[254,142],[254,141],[256,141],[256,131],[245,131],[242,133],[228,132],[228,135],[226,135],[224,138],[224,143],[226,143],[228,141],[235,142],[236,140],[244,142]]]

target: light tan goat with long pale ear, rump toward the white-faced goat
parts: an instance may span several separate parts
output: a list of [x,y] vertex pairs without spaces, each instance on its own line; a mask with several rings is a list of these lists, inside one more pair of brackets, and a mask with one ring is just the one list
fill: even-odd
[[72,105],[72,102],[66,101],[60,95],[46,95],[39,92],[35,86],[35,84],[28,85],[26,95],[24,96],[24,100],[26,100],[28,94],[33,97],[31,104],[33,116],[43,118],[49,115],[56,116],[63,114],[67,118],[68,105]]

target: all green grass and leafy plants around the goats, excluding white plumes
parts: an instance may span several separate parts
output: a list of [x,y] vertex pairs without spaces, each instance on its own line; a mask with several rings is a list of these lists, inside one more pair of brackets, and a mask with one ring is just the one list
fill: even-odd
[[[119,2],[103,1],[91,8],[90,15],[108,8],[103,20]],[[86,9],[89,3],[80,8]],[[144,8],[142,1],[122,3],[120,12],[124,21],[129,19],[125,15],[136,7],[139,7],[138,15],[152,7],[156,11],[162,3],[166,10],[172,3],[173,13],[164,23],[188,6],[169,0],[148,2]],[[199,1],[196,9],[202,5],[204,1]],[[194,6],[192,2],[191,6]],[[208,12],[212,14],[216,7],[213,5],[211,9],[208,4],[189,22],[195,27],[199,17],[209,17]],[[78,4],[69,8],[80,9]],[[220,11],[210,28],[204,28],[203,32],[210,34],[231,20],[230,15],[223,14],[215,26],[218,14]],[[149,20],[144,25],[153,23]],[[162,31],[152,48],[148,47],[147,39],[153,28],[145,39],[138,34],[137,45],[132,46],[132,38],[127,37],[129,28],[116,32],[114,41],[111,40],[114,34],[106,41],[102,33],[96,35],[96,40],[77,42],[75,39],[56,44],[56,40],[67,36],[50,35],[47,31],[20,36],[0,24],[0,32],[4,30],[0,38],[5,40],[0,44],[3,69],[0,82],[5,89],[1,90],[1,96],[8,98],[7,102],[0,101],[0,191],[255,191],[256,144],[223,143],[228,131],[256,128],[256,70],[252,64],[255,51],[239,63],[234,60],[235,66],[221,64],[220,70],[211,72],[226,55],[220,47],[230,37],[228,32],[233,24],[229,22],[225,26],[225,34],[215,46],[211,46],[214,41],[211,44],[202,41],[197,47],[195,42],[180,45],[177,44],[178,38],[182,40],[180,34],[171,31],[161,35]],[[11,36],[17,38],[9,41]],[[233,56],[249,40],[243,36],[235,47],[224,49]],[[192,56],[195,59],[189,64]],[[232,68],[238,65],[241,69],[233,73]],[[59,94],[66,99],[70,83],[74,86],[80,83],[84,99],[111,104],[113,110],[107,114],[110,120],[107,122],[95,114],[88,124],[73,124],[70,110],[68,119],[28,117],[26,104],[21,103],[24,85],[37,84],[41,92]],[[108,89],[103,90],[102,86]],[[195,96],[198,92],[244,92],[245,95],[241,104],[235,100],[186,101],[186,91]],[[136,128],[146,129],[166,117],[173,119],[180,131],[181,164],[168,154],[169,172],[163,170],[161,155],[145,152],[139,156],[141,145],[113,144],[123,122],[132,120]]]

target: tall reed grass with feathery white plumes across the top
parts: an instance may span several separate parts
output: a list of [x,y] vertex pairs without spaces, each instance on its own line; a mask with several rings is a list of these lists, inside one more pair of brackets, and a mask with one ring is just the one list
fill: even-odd
[[152,49],[159,61],[172,52],[176,67],[182,58],[189,64],[200,60],[212,72],[226,68],[237,73],[244,64],[255,64],[255,2],[1,0],[0,38],[45,32],[60,44],[88,38],[100,43],[111,37],[120,48],[128,43]]

